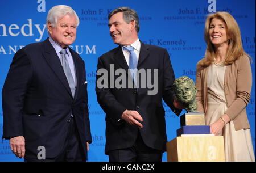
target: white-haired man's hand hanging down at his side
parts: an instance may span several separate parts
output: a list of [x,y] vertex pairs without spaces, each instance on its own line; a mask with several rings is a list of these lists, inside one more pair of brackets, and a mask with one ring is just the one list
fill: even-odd
[[25,138],[23,136],[16,136],[10,138],[11,151],[16,155],[16,157],[24,158],[25,156]]

